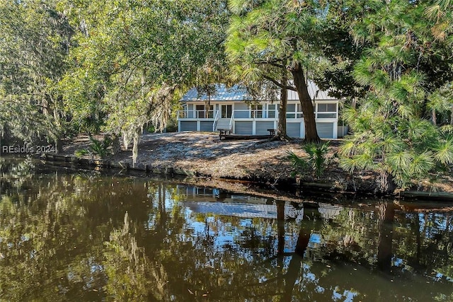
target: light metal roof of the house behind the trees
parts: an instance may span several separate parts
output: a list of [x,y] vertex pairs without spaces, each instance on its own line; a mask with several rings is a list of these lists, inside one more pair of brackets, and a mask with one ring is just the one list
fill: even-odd
[[[314,81],[308,81],[308,90],[311,100],[337,100],[332,96],[328,95],[328,91],[321,91]],[[280,98],[280,93],[277,95]],[[181,102],[190,102],[190,101],[200,101],[207,100],[208,96],[206,94],[199,95],[197,88],[191,88],[190,91],[185,93]],[[216,92],[214,95],[210,95],[210,100],[212,101],[223,101],[223,100],[252,100],[251,95],[249,95],[245,88],[241,88],[238,85],[231,87],[226,87],[225,84],[216,84]],[[288,90],[288,100],[299,100],[297,91]]]

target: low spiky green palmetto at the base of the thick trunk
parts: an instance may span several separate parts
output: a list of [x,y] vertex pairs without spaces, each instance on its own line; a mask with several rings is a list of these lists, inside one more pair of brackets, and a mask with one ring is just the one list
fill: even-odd
[[308,154],[305,157],[299,157],[294,152],[287,151],[287,159],[291,161],[294,173],[299,174],[311,170],[316,177],[320,178],[329,162],[328,145],[329,141],[323,144],[305,144],[304,151]]

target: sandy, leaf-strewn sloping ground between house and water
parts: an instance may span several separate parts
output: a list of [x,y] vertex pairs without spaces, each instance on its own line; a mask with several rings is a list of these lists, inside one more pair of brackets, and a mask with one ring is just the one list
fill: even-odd
[[[305,156],[301,143],[302,140],[219,140],[218,135],[212,132],[144,134],[139,142],[135,167],[144,169],[147,165],[150,170],[172,167],[207,178],[251,180],[275,185],[277,182],[294,182],[287,151]],[[63,154],[72,155],[77,149],[88,148],[89,144],[88,137],[76,137],[64,146]],[[302,180],[332,184],[345,191],[372,192],[376,178],[374,173],[363,171],[350,175],[338,168],[335,153],[339,145],[340,140],[331,141],[328,153],[331,160],[321,178],[317,179],[313,171],[307,171]],[[132,146],[108,159],[132,166]],[[432,190],[428,187],[421,189]],[[436,190],[453,192],[453,178],[442,180]]]

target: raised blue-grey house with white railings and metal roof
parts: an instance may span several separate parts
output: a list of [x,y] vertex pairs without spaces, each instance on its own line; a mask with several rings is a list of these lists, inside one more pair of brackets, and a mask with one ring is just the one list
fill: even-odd
[[[308,88],[314,100],[319,137],[343,137],[338,133],[338,105],[343,100],[332,98],[313,81],[309,81]],[[228,88],[224,84],[217,84],[214,95],[199,95],[197,89],[192,88],[180,100],[183,110],[178,112],[178,132],[229,129],[234,134],[265,135],[269,134],[270,129],[277,129],[280,102],[263,100],[256,105],[248,105],[246,101],[251,99],[246,89],[239,86]],[[286,117],[287,135],[304,138],[304,117],[296,91],[288,91]]]

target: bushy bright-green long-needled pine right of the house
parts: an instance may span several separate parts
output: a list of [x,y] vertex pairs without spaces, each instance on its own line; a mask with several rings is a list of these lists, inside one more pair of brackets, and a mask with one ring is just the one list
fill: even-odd
[[453,76],[452,49],[432,36],[429,4],[374,1],[352,24],[355,41],[371,44],[354,69],[369,91],[344,112],[354,135],[342,146],[340,165],[377,171],[379,192],[434,181],[453,163],[452,132],[428,121],[428,100]]

